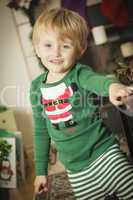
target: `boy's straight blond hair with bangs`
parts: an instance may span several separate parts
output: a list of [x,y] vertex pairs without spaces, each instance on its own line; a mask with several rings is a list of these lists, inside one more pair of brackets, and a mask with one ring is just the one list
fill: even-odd
[[89,31],[86,21],[77,12],[64,8],[43,11],[33,28],[35,48],[43,32],[47,31],[48,28],[58,31],[61,40],[71,39],[75,43],[77,52],[86,49]]

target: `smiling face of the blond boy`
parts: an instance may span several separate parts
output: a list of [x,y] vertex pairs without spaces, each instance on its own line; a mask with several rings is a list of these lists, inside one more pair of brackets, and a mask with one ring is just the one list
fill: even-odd
[[65,73],[76,61],[73,41],[59,39],[52,30],[43,33],[36,51],[44,66],[52,73]]

